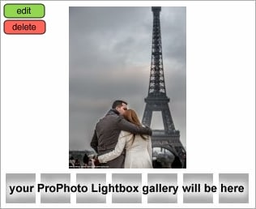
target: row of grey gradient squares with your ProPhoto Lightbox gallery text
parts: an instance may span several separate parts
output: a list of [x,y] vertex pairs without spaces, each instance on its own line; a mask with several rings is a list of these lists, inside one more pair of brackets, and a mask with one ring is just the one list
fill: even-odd
[[[249,203],[249,174],[220,173],[219,184],[213,184],[213,174],[185,173],[182,185],[177,184],[176,173],[149,173],[147,184],[142,184],[141,173],[115,173],[112,182],[105,173],[76,174],[76,183],[70,184],[69,173],[6,174],[6,203],[70,203],[70,194],[76,193],[77,203],[106,203],[106,194],[112,193],[112,203],[177,203],[177,194],[183,194],[183,203],[213,203],[213,194],[219,194],[219,203]],[[126,194],[126,195],[124,195]]]

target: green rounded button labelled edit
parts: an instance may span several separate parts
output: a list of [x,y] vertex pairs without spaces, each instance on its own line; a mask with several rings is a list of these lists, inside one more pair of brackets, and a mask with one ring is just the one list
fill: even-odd
[[45,5],[43,4],[6,4],[3,8],[6,18],[43,18]]

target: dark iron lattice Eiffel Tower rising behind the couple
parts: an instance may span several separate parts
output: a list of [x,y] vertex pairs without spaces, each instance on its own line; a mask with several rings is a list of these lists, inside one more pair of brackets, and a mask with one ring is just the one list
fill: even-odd
[[171,151],[173,155],[178,156],[181,163],[184,164],[186,150],[180,141],[180,131],[175,129],[168,104],[170,99],[166,96],[164,84],[164,66],[160,32],[161,7],[152,6],[151,11],[153,12],[151,71],[142,123],[146,126],[151,126],[153,111],[160,111],[162,113],[164,130],[153,130],[151,137],[152,147],[161,147]]

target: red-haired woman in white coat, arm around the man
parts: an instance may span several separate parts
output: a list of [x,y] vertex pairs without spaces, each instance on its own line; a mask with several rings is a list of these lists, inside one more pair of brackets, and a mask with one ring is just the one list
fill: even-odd
[[[127,109],[123,114],[127,121],[142,126],[133,109]],[[124,168],[152,168],[152,147],[149,135],[131,134],[124,130],[119,134],[117,145],[113,151],[98,156],[100,163],[115,159],[126,149]]]

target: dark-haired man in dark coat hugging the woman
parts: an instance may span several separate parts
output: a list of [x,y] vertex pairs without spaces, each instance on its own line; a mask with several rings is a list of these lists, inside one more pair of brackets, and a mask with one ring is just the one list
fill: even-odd
[[[121,130],[126,130],[132,134],[151,135],[152,131],[149,127],[139,127],[133,123],[127,122],[122,114],[127,110],[127,103],[123,100],[113,102],[112,109],[105,117],[101,118],[96,124],[91,147],[98,153],[103,155],[109,151],[113,151],[116,147],[117,139]],[[105,164],[106,168],[124,168],[125,151],[121,156],[109,161]]]

